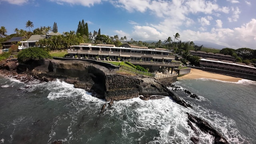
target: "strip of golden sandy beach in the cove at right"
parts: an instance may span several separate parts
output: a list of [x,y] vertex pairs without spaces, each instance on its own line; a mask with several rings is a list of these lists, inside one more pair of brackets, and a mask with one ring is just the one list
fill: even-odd
[[242,78],[235,78],[232,76],[226,76],[222,74],[214,74],[211,72],[206,72],[203,70],[198,70],[192,68],[190,71],[190,74],[186,74],[184,76],[178,77],[178,80],[184,80],[184,79],[198,79],[198,78],[209,78],[214,80],[222,80],[226,82],[238,82],[239,80],[242,80]]

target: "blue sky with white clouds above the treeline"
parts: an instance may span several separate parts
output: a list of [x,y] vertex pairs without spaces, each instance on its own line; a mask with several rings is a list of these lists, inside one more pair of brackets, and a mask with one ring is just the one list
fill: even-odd
[[206,41],[229,48],[256,49],[256,0],[0,0],[0,26],[7,34],[53,26],[77,29],[84,19],[89,32],[128,40]]

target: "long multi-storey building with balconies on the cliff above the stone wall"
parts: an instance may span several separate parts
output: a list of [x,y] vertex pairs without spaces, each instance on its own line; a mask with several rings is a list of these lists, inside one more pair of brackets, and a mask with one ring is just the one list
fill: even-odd
[[140,60],[150,62],[172,62],[175,56],[172,52],[163,48],[150,49],[148,47],[134,46],[124,44],[116,47],[114,44],[97,44],[96,46],[79,44],[71,46],[68,49],[71,56],[77,55],[79,58],[95,59],[99,57],[101,60]]

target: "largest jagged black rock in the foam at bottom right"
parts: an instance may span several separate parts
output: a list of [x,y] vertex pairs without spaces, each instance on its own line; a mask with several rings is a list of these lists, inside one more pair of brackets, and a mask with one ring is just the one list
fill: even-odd
[[[188,112],[187,112],[187,114],[188,114]],[[193,122],[194,124],[196,124],[196,126],[198,126],[198,128],[200,128],[200,130],[202,132],[204,132],[206,134],[208,133],[208,134],[214,136],[214,144],[229,144],[229,142],[226,140],[226,138],[224,138],[219,132],[214,130],[214,128],[212,128],[212,126],[210,126],[210,124],[208,124],[208,122],[206,122],[196,116],[192,116],[192,114],[188,114],[188,124],[189,124],[189,122]],[[198,134],[196,128],[194,128],[194,126],[191,126],[191,125],[190,125],[190,127],[194,131],[196,131],[196,133]]]

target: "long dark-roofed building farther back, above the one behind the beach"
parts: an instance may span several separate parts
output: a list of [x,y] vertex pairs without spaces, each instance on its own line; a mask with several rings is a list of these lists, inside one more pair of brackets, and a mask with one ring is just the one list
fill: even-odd
[[201,52],[201,51],[194,51],[194,50],[190,50],[190,54],[192,54],[193,56],[199,56],[201,58],[214,58],[214,59],[218,59],[218,60],[227,60],[227,61],[232,61],[235,62],[236,58],[230,55],[224,55],[224,54],[214,54],[212,52]]

